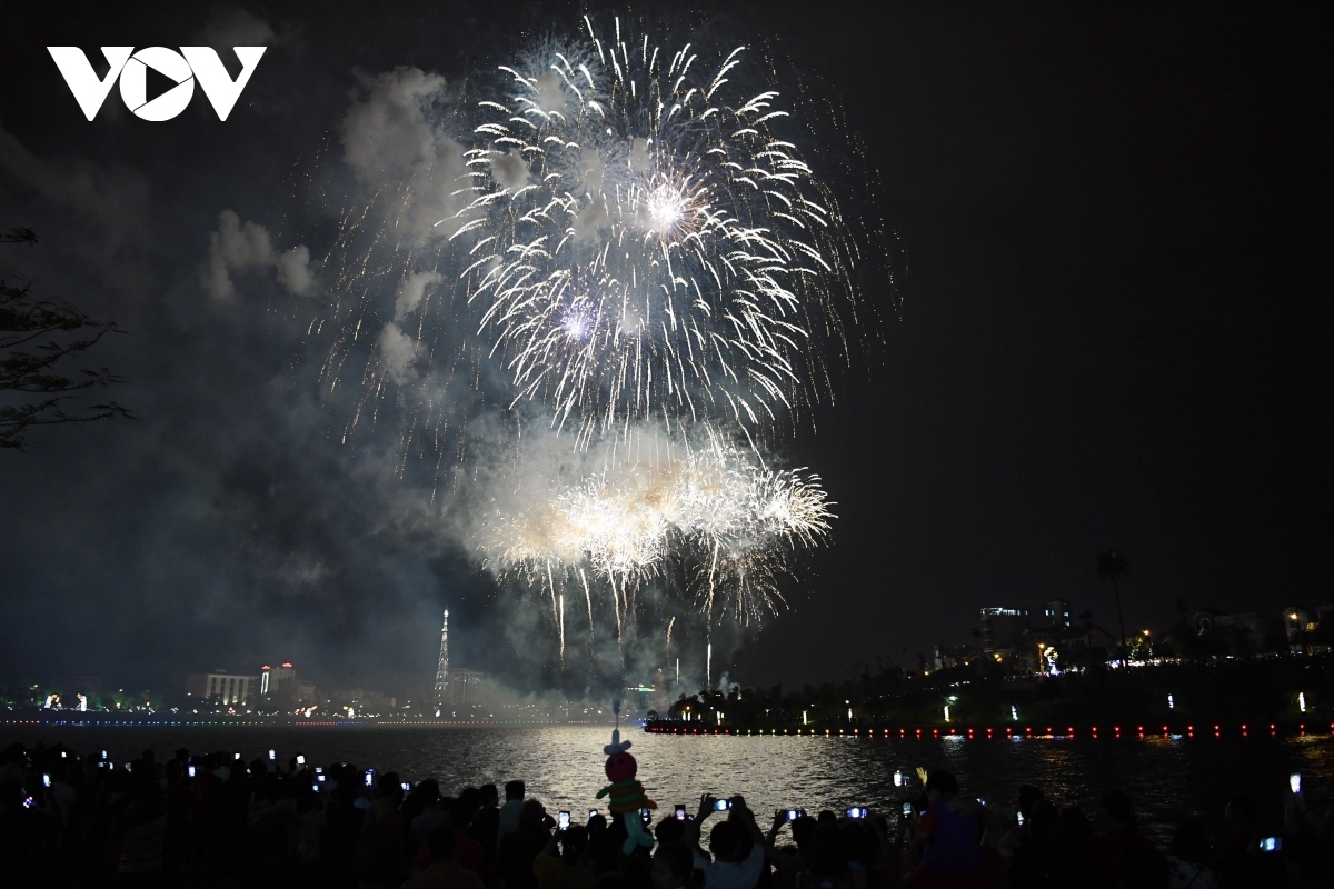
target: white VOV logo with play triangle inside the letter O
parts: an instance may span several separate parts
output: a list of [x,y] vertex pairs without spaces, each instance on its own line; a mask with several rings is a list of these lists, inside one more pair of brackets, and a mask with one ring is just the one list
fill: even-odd
[[[221,59],[212,47],[181,47],[180,52],[167,47],[145,47],[135,52],[133,47],[103,47],[111,68],[107,76],[97,79],[97,72],[88,63],[88,56],[79,47],[47,47],[56,60],[56,67],[69,85],[69,92],[79,101],[84,117],[92,120],[107,100],[111,85],[120,79],[120,99],[136,117],[143,120],[171,120],[195,96],[195,81],[204,88],[204,95],[212,103],[219,120],[227,120],[241,89],[259,65],[267,47],[232,47],[241,60],[241,73],[231,79]],[[165,76],[176,85],[152,101],[148,100],[148,69]]]

